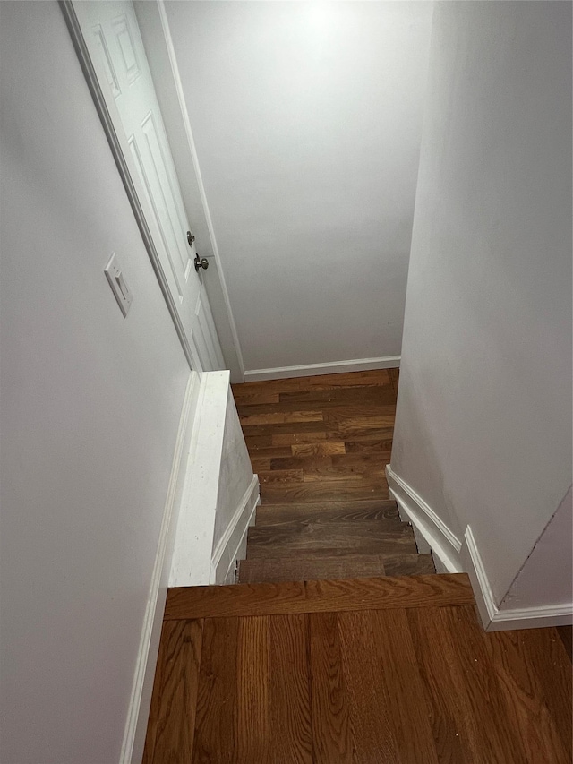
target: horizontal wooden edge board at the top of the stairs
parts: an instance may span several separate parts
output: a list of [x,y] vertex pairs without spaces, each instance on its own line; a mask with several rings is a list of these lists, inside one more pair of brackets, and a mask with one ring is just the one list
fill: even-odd
[[170,588],[164,620],[458,605],[475,605],[466,573]]

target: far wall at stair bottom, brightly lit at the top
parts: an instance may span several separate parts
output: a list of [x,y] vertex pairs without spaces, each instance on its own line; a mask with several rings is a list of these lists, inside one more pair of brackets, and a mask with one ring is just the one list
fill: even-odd
[[166,7],[245,368],[399,355],[432,4]]

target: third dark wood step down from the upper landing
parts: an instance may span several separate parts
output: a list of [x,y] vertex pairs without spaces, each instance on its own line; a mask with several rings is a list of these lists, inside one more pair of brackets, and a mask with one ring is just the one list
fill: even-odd
[[311,507],[308,504],[261,504],[257,507],[257,526],[305,519],[322,522],[383,519],[400,524],[398,505],[391,501],[314,502]]

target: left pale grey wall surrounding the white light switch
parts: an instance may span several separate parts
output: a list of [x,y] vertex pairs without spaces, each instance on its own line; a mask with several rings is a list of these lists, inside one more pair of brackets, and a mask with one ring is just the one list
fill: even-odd
[[1,13],[2,760],[108,764],[189,369],[60,9]]

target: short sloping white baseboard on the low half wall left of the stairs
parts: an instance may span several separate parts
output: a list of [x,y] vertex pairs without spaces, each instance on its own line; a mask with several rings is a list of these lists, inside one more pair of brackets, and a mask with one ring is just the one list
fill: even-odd
[[254,521],[259,498],[259,477],[252,481],[244,492],[242,501],[235,510],[227,530],[213,551],[211,559],[211,583],[228,584],[235,581],[235,565],[241,559],[247,530]]

